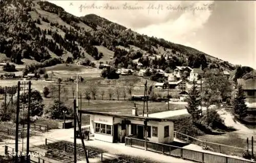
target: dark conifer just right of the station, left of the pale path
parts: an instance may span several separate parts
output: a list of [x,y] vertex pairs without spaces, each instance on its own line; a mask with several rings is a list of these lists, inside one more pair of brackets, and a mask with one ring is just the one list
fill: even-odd
[[186,106],[187,112],[192,116],[193,121],[198,120],[200,118],[201,110],[199,110],[199,106],[201,104],[200,92],[197,90],[196,82],[193,82],[193,86],[189,91],[189,95],[187,98],[188,106]]

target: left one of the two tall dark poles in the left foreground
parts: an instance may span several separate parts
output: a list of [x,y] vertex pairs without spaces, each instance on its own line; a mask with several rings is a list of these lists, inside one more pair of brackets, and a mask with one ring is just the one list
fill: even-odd
[[19,90],[20,82],[18,81],[17,87],[17,109],[16,109],[16,129],[15,129],[15,162],[18,162],[18,119],[19,119]]

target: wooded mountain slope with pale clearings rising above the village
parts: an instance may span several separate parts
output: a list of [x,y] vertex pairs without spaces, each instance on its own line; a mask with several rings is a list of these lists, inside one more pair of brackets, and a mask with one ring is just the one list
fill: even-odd
[[[112,61],[118,67],[173,69],[179,65],[234,66],[194,48],[138,34],[94,14],[76,17],[49,2],[8,0],[1,4],[0,54],[17,64],[25,59],[51,66],[67,58]],[[113,58],[113,59],[112,59]]]

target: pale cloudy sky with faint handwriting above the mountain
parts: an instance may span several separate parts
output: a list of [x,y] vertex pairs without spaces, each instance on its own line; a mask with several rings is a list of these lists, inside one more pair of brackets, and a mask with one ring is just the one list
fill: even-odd
[[140,34],[190,46],[256,69],[253,1],[49,1],[65,11],[96,14]]

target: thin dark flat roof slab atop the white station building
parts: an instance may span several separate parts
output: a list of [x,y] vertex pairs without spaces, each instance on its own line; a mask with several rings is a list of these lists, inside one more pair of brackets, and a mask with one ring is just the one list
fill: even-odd
[[119,113],[111,113],[106,111],[92,111],[92,110],[78,110],[79,113],[84,114],[94,114],[94,115],[105,115],[105,116],[111,116],[111,117],[117,117],[117,118],[123,118],[123,119],[132,119],[132,120],[139,120],[139,121],[172,121],[170,119],[159,119],[159,118],[152,118],[152,117],[142,117],[142,116],[135,116],[130,114],[119,114]]

